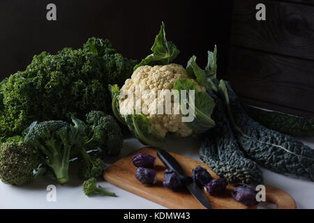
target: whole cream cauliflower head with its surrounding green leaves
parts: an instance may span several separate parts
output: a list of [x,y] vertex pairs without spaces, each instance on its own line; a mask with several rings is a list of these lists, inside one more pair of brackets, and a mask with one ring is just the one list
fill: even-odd
[[[214,53],[209,52],[205,70],[197,66],[195,56],[184,68],[171,63],[179,50],[166,40],[164,28],[162,24],[151,47],[153,54],[135,66],[133,75],[126,79],[124,86],[121,89],[117,84],[109,86],[112,111],[117,119],[128,125],[143,144],[156,147],[163,146],[168,132],[187,137],[215,125],[211,119],[215,102],[206,91],[215,90],[211,79],[216,77],[216,48]],[[186,93],[188,99],[184,98]],[[186,121],[191,112],[193,118]]]

